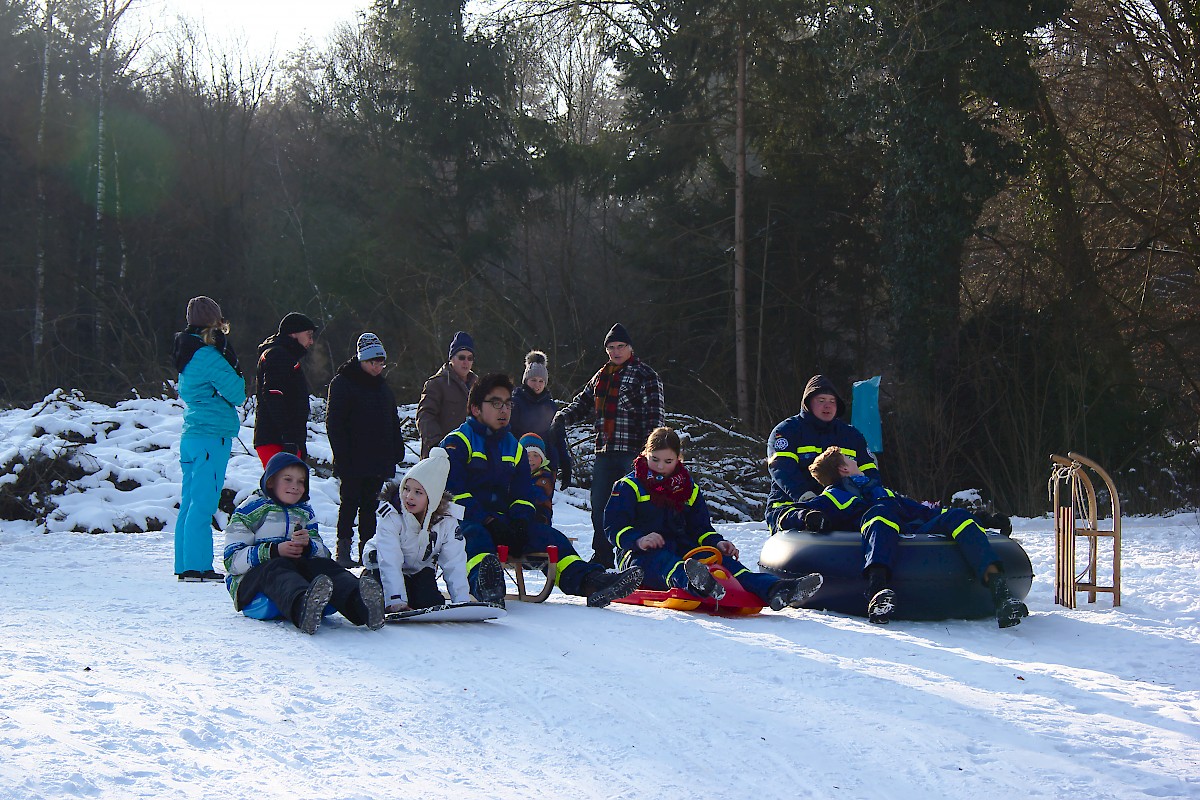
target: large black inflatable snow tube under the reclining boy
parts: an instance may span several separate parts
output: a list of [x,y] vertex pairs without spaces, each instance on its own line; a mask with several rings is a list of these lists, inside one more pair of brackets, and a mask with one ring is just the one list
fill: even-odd
[[[1033,583],[1030,557],[1020,543],[1008,536],[988,531],[988,542],[1004,565],[1004,578],[1013,596],[1025,600]],[[804,603],[805,608],[866,616],[863,537],[857,531],[780,531],[762,546],[758,566],[781,578],[820,572],[824,583]],[[893,619],[982,619],[995,615],[991,594],[974,577],[948,536],[901,535],[892,578],[890,587],[896,593]]]

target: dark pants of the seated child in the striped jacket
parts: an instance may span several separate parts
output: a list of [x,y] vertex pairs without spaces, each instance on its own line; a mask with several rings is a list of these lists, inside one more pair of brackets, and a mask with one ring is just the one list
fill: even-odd
[[263,593],[294,625],[300,619],[300,599],[318,575],[328,575],[334,582],[334,595],[329,600],[334,608],[355,625],[366,625],[367,607],[359,594],[359,579],[332,559],[324,558],[278,555],[251,569],[238,584],[238,608],[245,608]]

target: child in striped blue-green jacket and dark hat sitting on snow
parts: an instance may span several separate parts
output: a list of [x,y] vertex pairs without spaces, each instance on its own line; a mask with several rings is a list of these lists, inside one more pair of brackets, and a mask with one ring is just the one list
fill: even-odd
[[258,492],[226,529],[224,567],[234,607],[265,595],[293,625],[316,633],[325,606],[372,631],[383,627],[383,589],[330,558],[308,505],[308,465],[288,452],[266,462]]

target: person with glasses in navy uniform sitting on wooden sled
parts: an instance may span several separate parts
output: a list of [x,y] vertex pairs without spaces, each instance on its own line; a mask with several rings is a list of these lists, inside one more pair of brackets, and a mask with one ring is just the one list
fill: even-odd
[[558,547],[558,571],[547,581],[564,594],[587,597],[588,606],[604,607],[642,583],[642,569],[607,572],[582,560],[571,542],[550,525],[535,522],[540,489],[529,475],[529,462],[509,431],[512,380],[485,375],[472,386],[470,417],[442,440],[450,456],[446,491],[464,509],[458,531],[467,542],[467,581],[484,602],[504,602],[504,576],[496,546],[514,555]]

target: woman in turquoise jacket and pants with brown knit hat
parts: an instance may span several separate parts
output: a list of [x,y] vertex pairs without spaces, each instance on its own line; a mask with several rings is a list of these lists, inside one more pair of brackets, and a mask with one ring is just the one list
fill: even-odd
[[179,397],[187,407],[179,441],[184,492],[175,521],[175,576],[180,581],[224,577],[212,569],[212,515],[241,427],[238,407],[246,401],[246,380],[226,339],[228,332],[221,306],[199,296],[187,303],[187,327],[175,333]]

